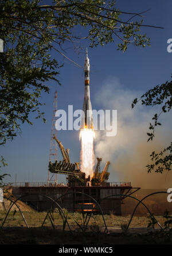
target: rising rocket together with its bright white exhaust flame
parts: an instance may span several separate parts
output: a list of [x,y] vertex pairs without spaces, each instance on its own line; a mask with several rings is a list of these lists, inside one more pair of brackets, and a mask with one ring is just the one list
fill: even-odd
[[92,106],[89,93],[89,59],[88,52],[84,63],[85,76],[85,93],[83,103],[83,116],[81,117],[80,140],[81,140],[81,171],[91,177],[93,174],[93,167],[95,161],[95,154],[93,148],[93,140],[95,139],[95,132],[93,131],[93,117]]

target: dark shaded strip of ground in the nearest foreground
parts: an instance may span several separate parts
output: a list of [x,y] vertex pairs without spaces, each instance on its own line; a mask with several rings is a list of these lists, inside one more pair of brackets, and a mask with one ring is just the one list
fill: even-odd
[[5,228],[0,244],[171,244],[171,236],[161,232],[150,234],[102,234],[52,230],[52,228]]

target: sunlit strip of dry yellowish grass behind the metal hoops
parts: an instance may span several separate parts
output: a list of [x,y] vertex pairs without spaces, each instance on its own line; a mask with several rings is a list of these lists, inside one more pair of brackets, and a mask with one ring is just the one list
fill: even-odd
[[[42,222],[45,219],[46,212],[23,212],[25,219],[29,227],[41,227]],[[66,216],[65,212],[65,216]],[[0,226],[5,218],[6,212],[0,212]],[[63,221],[58,211],[52,214],[55,226],[62,226]],[[121,225],[128,224],[131,216],[115,216],[112,213],[110,215],[104,215],[105,223],[108,227],[120,228]],[[156,216],[156,219],[163,225],[165,219],[162,216]],[[76,221],[79,224],[83,224],[83,215],[81,213],[68,213],[69,225],[76,225]],[[134,216],[130,225],[132,227],[147,227],[149,219],[147,217]],[[89,226],[104,227],[103,217],[101,215],[93,215],[89,220]],[[5,227],[21,227],[25,226],[24,220],[19,212],[11,211],[6,219]],[[44,226],[51,226],[49,218],[46,219]]]

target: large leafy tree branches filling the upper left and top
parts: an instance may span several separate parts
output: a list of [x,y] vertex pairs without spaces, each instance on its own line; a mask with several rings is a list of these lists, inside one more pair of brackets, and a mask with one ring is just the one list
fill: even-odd
[[54,0],[41,5],[40,0],[2,0],[0,13],[0,38],[5,44],[0,53],[0,144],[17,136],[21,124],[32,124],[30,112],[45,122],[41,93],[49,92],[46,82],[60,83],[57,75],[62,66],[52,58],[52,51],[69,59],[64,45],[84,39],[90,47],[115,42],[122,51],[130,44],[150,45],[140,33],[142,26],[151,26],[143,25],[143,12],[123,12],[115,1]]

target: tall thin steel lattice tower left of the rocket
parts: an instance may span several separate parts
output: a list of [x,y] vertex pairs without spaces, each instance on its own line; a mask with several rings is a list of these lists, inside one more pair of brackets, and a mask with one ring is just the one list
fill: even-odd
[[[57,160],[57,143],[56,140],[53,139],[53,135],[57,137],[57,130],[55,128],[55,114],[57,111],[57,87],[54,92],[54,101],[53,101],[53,117],[52,117],[52,129],[51,129],[51,137],[50,137],[50,150],[49,150],[49,161],[54,163]],[[55,182],[57,184],[57,174],[52,174],[48,170],[48,183]]]

